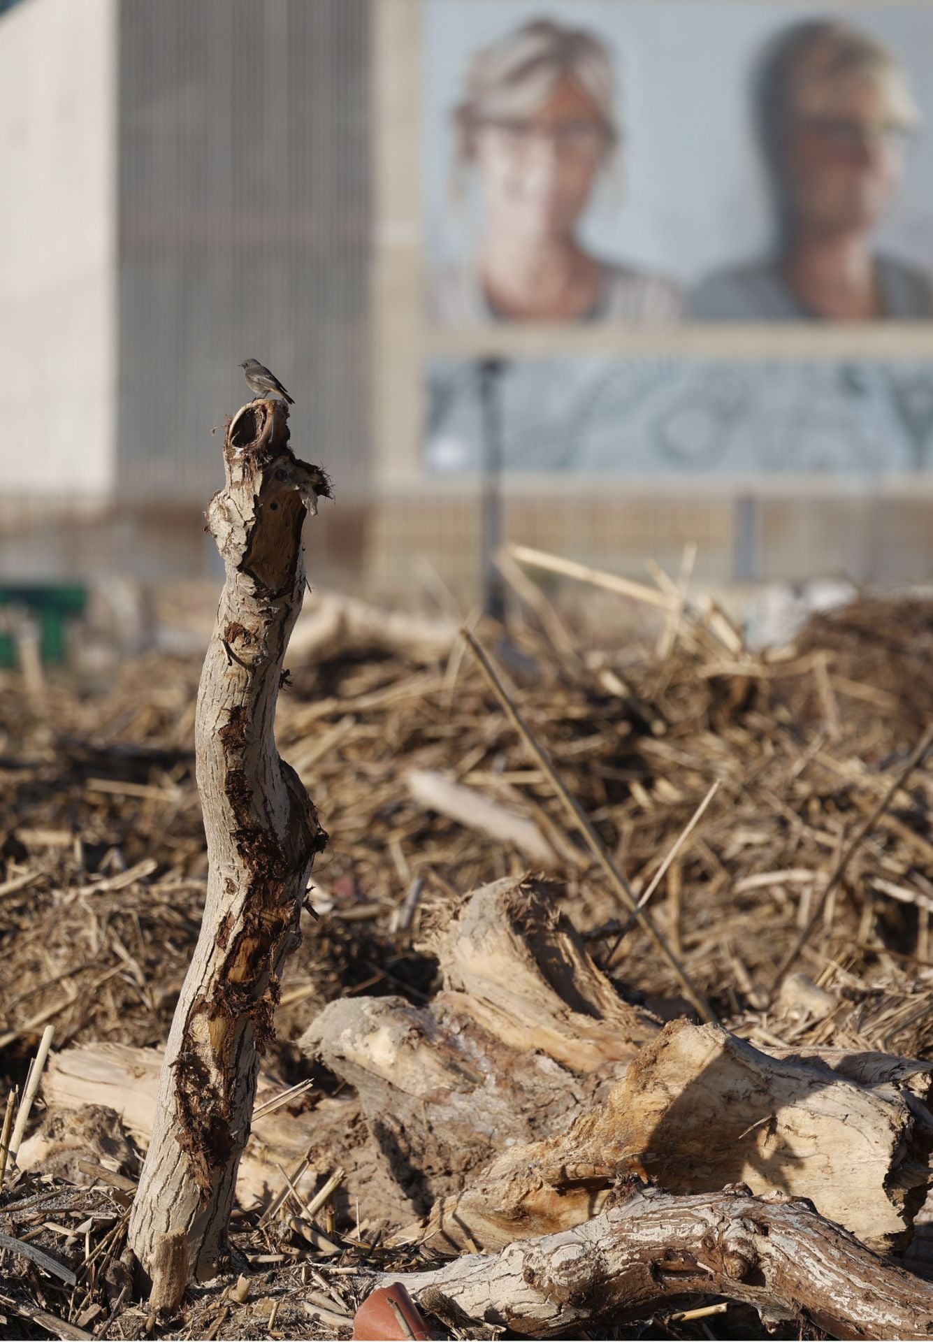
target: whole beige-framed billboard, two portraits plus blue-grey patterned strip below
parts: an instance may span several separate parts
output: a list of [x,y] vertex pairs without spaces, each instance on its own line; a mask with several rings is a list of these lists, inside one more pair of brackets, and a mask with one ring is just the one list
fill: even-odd
[[388,480],[933,495],[933,0],[405,12]]

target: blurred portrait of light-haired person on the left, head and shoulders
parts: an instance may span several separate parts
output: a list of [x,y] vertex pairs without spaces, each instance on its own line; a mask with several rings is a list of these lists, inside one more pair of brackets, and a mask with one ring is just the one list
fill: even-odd
[[670,322],[675,287],[593,252],[580,220],[624,154],[607,44],[534,19],[478,50],[454,110],[455,176],[475,174],[482,232],[428,280],[442,326],[489,321]]

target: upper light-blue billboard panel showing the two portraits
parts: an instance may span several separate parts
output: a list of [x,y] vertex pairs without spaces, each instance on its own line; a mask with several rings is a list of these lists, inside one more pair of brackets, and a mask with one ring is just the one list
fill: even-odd
[[424,309],[933,318],[933,8],[427,0]]

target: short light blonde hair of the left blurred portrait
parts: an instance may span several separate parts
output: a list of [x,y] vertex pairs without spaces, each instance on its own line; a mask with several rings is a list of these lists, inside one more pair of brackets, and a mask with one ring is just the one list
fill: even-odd
[[533,115],[564,79],[591,98],[607,137],[618,138],[616,89],[605,44],[584,28],[565,28],[534,19],[473,56],[463,99],[454,111],[456,160],[473,158],[475,132],[483,121]]

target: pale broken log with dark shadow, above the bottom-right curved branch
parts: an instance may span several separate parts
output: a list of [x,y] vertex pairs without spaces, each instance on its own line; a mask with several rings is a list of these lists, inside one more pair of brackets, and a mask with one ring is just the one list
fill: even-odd
[[675,1193],[742,1181],[807,1197],[886,1252],[926,1196],[933,1126],[917,1091],[932,1075],[878,1055],[773,1059],[716,1025],[673,1021],[604,1103],[503,1151],[401,1237],[498,1249],[580,1224],[634,1172]]

